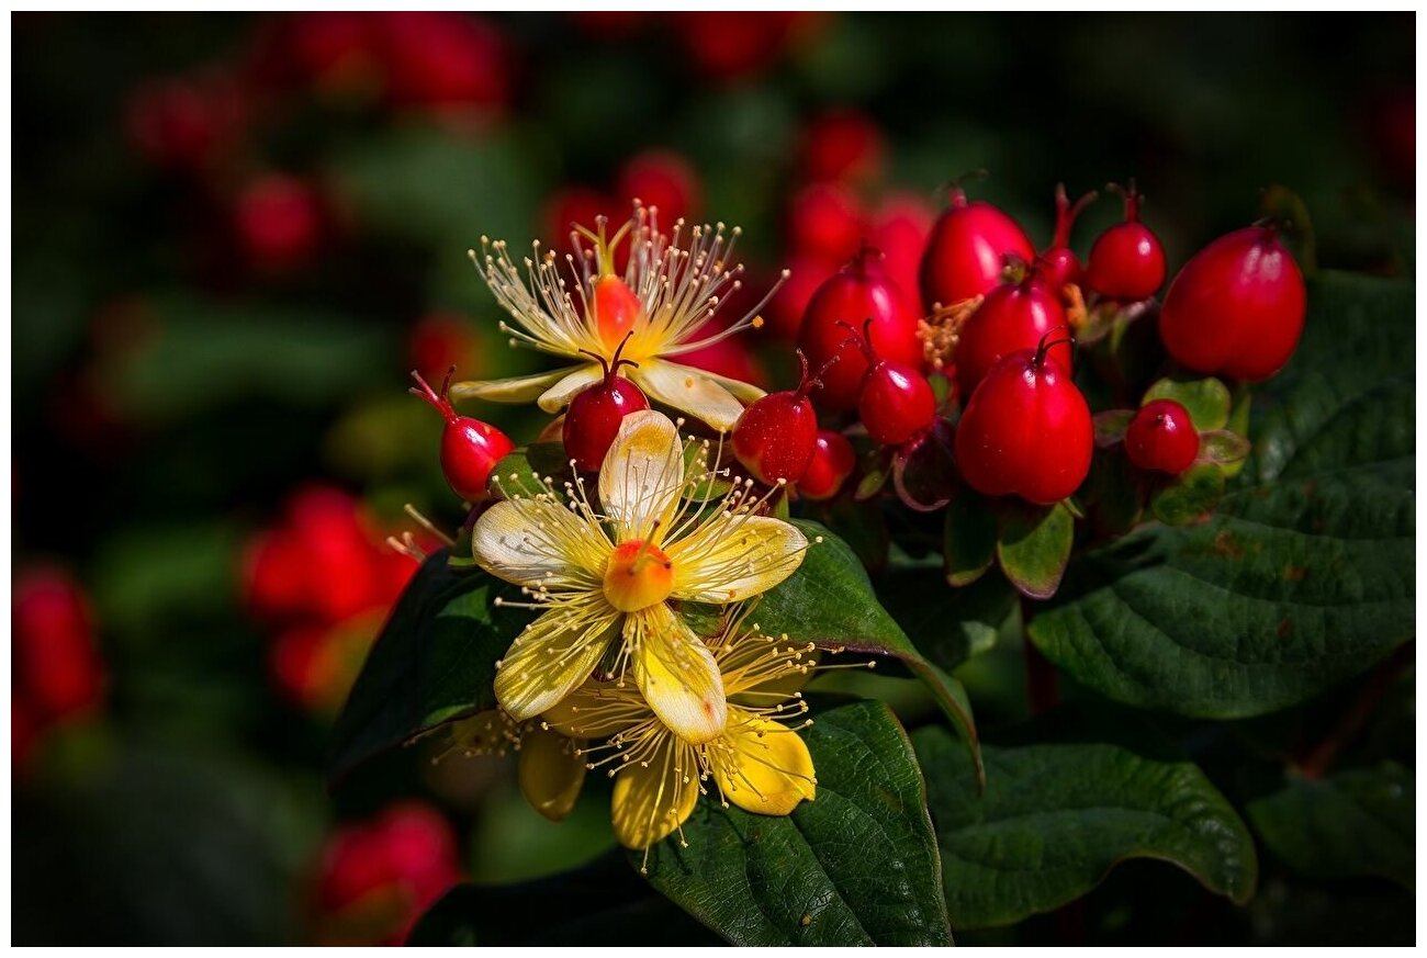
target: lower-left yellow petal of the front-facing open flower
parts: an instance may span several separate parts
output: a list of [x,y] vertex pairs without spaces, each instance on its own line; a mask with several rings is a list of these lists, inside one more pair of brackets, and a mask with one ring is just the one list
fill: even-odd
[[595,670],[618,626],[619,613],[602,596],[542,613],[501,660],[497,701],[522,721],[554,707]]

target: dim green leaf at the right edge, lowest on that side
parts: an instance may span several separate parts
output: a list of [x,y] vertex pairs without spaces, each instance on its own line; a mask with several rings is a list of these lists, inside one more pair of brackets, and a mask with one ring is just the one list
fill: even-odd
[[1269,851],[1306,875],[1377,875],[1413,890],[1416,801],[1413,773],[1388,761],[1320,780],[1290,778],[1247,811]]

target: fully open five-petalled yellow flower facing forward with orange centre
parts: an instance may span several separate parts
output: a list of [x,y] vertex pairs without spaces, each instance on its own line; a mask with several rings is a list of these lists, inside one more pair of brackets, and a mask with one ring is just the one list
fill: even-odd
[[[755,515],[752,482],[718,503],[685,499],[706,478],[685,469],[668,416],[625,418],[599,470],[596,512],[584,479],[565,495],[545,479],[507,490],[471,533],[477,563],[522,586],[541,610],[498,663],[495,697],[515,718],[558,704],[601,666],[635,684],[659,718],[698,744],[726,718],[718,664],[668,600],[728,604],[772,589],[802,563],[808,539]],[[512,478],[514,479],[514,478]],[[502,486],[504,489],[504,486]]]

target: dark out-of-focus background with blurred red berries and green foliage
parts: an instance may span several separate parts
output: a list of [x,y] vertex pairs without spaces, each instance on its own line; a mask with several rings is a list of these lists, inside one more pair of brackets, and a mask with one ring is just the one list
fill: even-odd
[[[434,761],[440,741],[325,790],[331,723],[415,569],[384,539],[408,502],[459,520],[408,371],[539,368],[497,331],[465,255],[482,235],[562,244],[634,197],[742,225],[752,289],[793,275],[701,362],[765,383],[863,240],[915,285],[945,184],[977,168],[972,197],[1037,242],[1056,182],[1133,175],[1172,268],[1270,184],[1304,200],[1320,265],[1413,261],[1411,14],[11,26],[17,944],[395,942],[454,881],[611,844],[598,795],[557,828],[505,761]],[[1119,218],[1102,197],[1073,247]],[[468,412],[517,442],[542,426]],[[1016,659],[972,666],[982,723],[1017,718]],[[1206,934],[1114,911],[1132,894],[1112,880],[1080,921]],[[1214,935],[1291,938],[1273,908]],[[1030,924],[1007,939],[1049,934]]]

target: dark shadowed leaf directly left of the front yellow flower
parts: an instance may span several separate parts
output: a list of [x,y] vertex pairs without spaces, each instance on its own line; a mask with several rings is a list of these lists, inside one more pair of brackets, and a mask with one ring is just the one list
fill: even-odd
[[495,707],[495,660],[528,616],[495,609],[514,590],[479,570],[431,556],[392,609],[334,731],[331,774],[458,716]]

